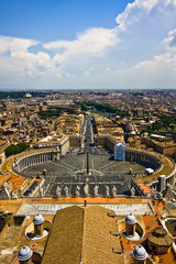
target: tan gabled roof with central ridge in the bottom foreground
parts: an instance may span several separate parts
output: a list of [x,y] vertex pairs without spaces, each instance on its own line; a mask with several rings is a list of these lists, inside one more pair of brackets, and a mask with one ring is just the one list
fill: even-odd
[[[69,207],[57,211],[42,264],[123,263],[120,241],[110,210],[101,207]],[[113,252],[118,248],[120,254]],[[64,252],[64,254],[63,254]]]

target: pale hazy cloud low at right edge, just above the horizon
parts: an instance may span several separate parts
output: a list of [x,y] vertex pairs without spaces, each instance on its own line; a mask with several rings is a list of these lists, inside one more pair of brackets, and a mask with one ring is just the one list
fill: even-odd
[[170,53],[154,56],[124,70],[116,70],[117,79],[131,88],[175,88],[176,55]]

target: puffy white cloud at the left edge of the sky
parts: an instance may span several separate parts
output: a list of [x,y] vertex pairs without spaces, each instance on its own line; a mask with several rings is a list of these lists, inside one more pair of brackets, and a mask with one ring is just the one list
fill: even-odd
[[[0,69],[3,74],[20,76],[43,76],[44,72],[53,69],[54,63],[47,53],[36,55],[29,48],[37,45],[35,40],[0,36]],[[6,52],[9,52],[7,55]]]

